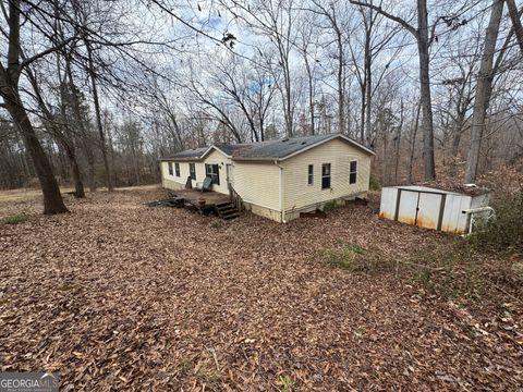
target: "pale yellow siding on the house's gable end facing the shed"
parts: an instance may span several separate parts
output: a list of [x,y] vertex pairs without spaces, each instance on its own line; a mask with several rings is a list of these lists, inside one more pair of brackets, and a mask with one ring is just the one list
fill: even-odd
[[[349,184],[351,160],[357,161],[357,180]],[[321,164],[330,163],[330,188],[321,189]],[[314,183],[307,185],[308,166],[314,164]],[[282,162],[283,206],[287,213],[323,203],[350,198],[368,191],[370,157],[341,139],[333,139]]]

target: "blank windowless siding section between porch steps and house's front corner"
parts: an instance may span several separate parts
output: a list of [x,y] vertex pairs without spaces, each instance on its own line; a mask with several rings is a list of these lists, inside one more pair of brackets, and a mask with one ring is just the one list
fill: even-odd
[[[280,211],[279,176],[280,169],[273,162],[234,162],[233,186],[242,199],[278,212]],[[272,213],[270,216],[272,217]]]

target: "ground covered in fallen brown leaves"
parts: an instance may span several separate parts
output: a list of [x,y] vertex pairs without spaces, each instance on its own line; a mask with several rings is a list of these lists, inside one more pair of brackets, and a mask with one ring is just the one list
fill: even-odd
[[393,272],[315,253],[355,244],[384,264],[451,237],[337,209],[289,224],[89,194],[71,213],[0,204],[0,371],[54,370],[62,390],[518,390],[514,304],[476,315]]

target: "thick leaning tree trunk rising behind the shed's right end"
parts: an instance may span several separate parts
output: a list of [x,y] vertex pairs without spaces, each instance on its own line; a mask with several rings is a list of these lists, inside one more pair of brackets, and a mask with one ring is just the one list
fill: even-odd
[[490,20],[485,33],[485,48],[483,51],[479,74],[472,113],[471,146],[466,156],[465,183],[473,183],[477,176],[477,163],[482,148],[482,137],[485,130],[485,119],[492,89],[492,63],[498,39],[499,24],[503,14],[503,0],[494,0]]

